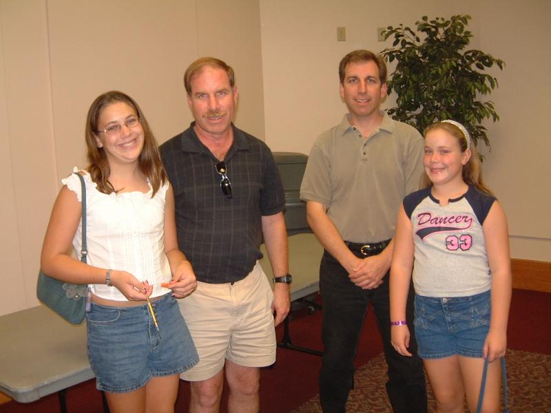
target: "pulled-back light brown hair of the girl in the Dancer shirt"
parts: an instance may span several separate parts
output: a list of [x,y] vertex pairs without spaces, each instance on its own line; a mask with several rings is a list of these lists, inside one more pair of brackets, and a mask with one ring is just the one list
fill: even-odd
[[[473,185],[476,189],[483,193],[494,196],[492,191],[490,191],[490,189],[486,187],[486,184],[484,184],[484,180],[482,179],[482,165],[476,145],[473,145],[472,142],[470,142],[469,145],[469,142],[467,142],[467,139],[469,138],[463,133],[463,131],[461,131],[459,127],[447,122],[433,123],[433,125],[430,125],[425,129],[424,136],[426,136],[428,132],[435,129],[443,129],[444,131],[448,132],[448,134],[456,138],[457,142],[459,143],[461,153],[465,152],[467,149],[470,149],[470,158],[463,166],[463,169],[461,171],[461,176],[464,182],[468,185]],[[425,173],[423,177],[422,187],[428,188],[432,186],[433,182],[430,182],[430,179]]]

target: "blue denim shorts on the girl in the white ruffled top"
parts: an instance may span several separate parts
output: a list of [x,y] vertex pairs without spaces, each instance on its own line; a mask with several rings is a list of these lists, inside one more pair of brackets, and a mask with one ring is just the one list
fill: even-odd
[[179,374],[199,357],[178,301],[167,293],[152,301],[159,331],[147,305],[107,307],[92,303],[86,313],[88,358],[96,388],[132,392],[152,377]]

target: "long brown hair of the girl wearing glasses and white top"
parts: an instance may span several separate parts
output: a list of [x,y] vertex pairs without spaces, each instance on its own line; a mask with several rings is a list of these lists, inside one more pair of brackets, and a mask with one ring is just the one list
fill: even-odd
[[143,112],[136,101],[127,94],[118,92],[118,90],[111,90],[110,92],[101,94],[94,100],[92,105],[90,105],[90,109],[88,109],[85,125],[85,140],[87,158],[90,165],[88,165],[87,171],[90,172],[92,180],[96,182],[98,191],[103,193],[116,192],[113,185],[109,181],[111,169],[109,167],[109,162],[107,162],[105,150],[103,148],[98,148],[96,143],[96,135],[98,134],[98,120],[101,112],[105,109],[105,107],[116,102],[123,102],[129,105],[129,107],[134,108],[136,115],[140,118],[140,123],[143,128],[144,141],[143,149],[140,153],[140,157],[138,158],[138,167],[140,168],[140,171],[149,179],[149,182],[151,182],[153,197],[160,188],[160,185],[167,182],[167,173],[163,167],[163,162],[160,160],[157,142],[153,136],[153,132],[149,128],[147,119],[143,116]]

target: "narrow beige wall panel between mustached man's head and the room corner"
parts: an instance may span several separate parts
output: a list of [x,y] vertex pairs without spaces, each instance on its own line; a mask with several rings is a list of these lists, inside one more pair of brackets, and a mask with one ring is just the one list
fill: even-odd
[[[258,0],[197,2],[198,56],[215,56],[236,72],[236,126],[264,140],[264,95]],[[191,63],[191,62],[189,62]]]

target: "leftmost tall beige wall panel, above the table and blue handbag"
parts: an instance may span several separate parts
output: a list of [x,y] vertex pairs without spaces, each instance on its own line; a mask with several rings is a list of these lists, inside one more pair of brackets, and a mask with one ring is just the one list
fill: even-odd
[[2,244],[10,244],[0,248],[0,261],[12,278],[5,284],[10,288],[0,293],[4,314],[38,304],[39,254],[56,184],[45,2],[1,1],[0,6],[5,87],[1,145],[6,164],[1,163],[11,169],[2,174],[8,178],[2,209],[10,220],[2,227],[8,230]]

